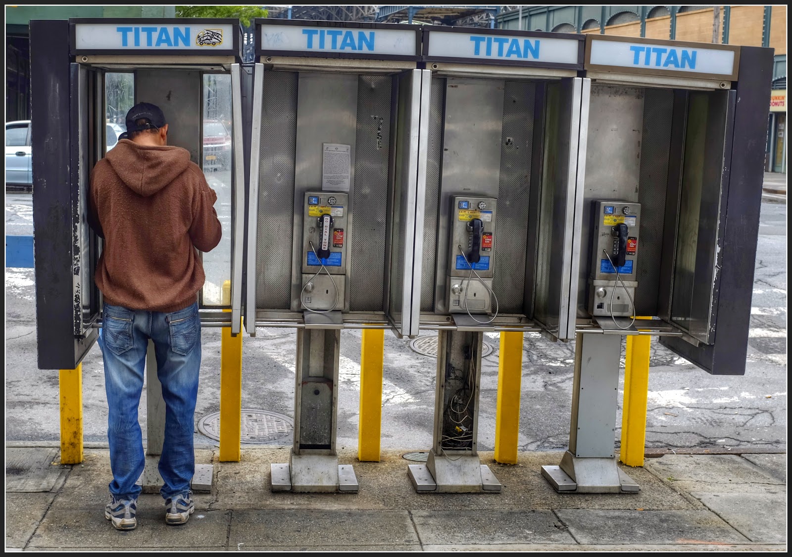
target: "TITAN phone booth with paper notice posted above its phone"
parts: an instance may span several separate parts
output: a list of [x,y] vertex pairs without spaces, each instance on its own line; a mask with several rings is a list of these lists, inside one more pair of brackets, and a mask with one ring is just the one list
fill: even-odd
[[272,490],[354,492],[336,453],[341,330],[418,334],[420,31],[255,23],[245,328],[298,329],[295,439]]

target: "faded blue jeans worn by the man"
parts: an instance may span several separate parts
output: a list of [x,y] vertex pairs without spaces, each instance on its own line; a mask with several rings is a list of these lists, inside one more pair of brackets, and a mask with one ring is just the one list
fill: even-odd
[[195,473],[193,422],[200,369],[198,303],[173,313],[132,311],[105,304],[99,339],[109,406],[107,437],[116,498],[136,498],[146,457],[138,422],[148,340],[165,399],[165,441],[159,459],[163,498],[185,494]]

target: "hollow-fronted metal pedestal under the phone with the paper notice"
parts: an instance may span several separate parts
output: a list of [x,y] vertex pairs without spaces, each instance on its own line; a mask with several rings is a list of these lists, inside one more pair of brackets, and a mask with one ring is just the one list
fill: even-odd
[[356,493],[351,464],[338,464],[341,312],[307,313],[297,331],[294,444],[287,464],[270,464],[272,491]]

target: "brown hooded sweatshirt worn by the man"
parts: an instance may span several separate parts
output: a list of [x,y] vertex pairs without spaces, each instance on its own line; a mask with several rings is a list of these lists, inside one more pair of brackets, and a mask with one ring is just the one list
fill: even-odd
[[188,150],[122,139],[91,172],[91,226],[105,239],[96,283],[111,305],[175,312],[196,301],[196,248],[219,244],[215,191]]

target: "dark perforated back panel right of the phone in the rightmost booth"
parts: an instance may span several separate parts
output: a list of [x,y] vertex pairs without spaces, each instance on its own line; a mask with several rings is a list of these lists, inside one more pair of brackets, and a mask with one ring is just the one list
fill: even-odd
[[645,89],[644,95],[638,185],[638,203],[642,207],[641,243],[638,245],[635,315],[657,315],[674,93],[671,89]]

